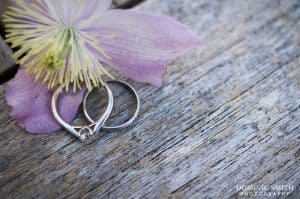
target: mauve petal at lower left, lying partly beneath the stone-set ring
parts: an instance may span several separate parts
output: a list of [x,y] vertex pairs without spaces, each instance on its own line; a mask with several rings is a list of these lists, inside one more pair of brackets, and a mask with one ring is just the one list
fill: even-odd
[[[71,90],[71,89],[70,89]],[[74,94],[64,93],[58,100],[58,110],[66,122],[76,116],[85,89]],[[12,106],[12,117],[30,133],[51,133],[61,129],[51,111],[52,92],[46,85],[34,81],[33,76],[19,69],[16,77],[6,87],[6,100]]]

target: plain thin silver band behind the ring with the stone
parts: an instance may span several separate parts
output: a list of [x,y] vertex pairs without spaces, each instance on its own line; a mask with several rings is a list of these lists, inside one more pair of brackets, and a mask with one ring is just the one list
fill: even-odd
[[[134,120],[137,118],[137,116],[139,114],[140,106],[141,106],[140,105],[139,96],[138,96],[136,90],[130,84],[128,84],[128,83],[126,83],[124,81],[109,80],[109,81],[107,81],[107,83],[117,83],[117,84],[120,84],[120,85],[122,85],[124,87],[127,87],[129,90],[131,90],[131,92],[135,95],[135,98],[136,98],[136,110],[135,110],[133,116],[127,122],[125,122],[123,124],[120,124],[120,125],[117,125],[117,126],[105,126],[105,125],[102,125],[101,127],[103,129],[106,129],[106,130],[119,130],[119,129],[126,128],[126,127],[130,126],[134,122]],[[95,121],[90,117],[90,115],[87,112],[86,103],[87,103],[87,98],[88,98],[89,94],[90,94],[90,92],[86,93],[86,95],[85,95],[85,97],[83,99],[83,112],[84,112],[84,115],[85,115],[86,119],[88,121],[90,121],[92,124],[95,124]],[[97,128],[97,130],[99,130],[100,128]]]

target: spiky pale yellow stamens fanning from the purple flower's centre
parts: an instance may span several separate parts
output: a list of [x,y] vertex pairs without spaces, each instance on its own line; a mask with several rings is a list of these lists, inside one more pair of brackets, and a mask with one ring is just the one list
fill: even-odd
[[[13,57],[26,71],[35,75],[35,80],[47,83],[49,89],[64,84],[68,90],[72,84],[75,92],[83,84],[89,90],[103,84],[103,75],[113,79],[98,60],[97,53],[112,59],[101,48],[99,40],[114,39],[116,35],[81,31],[77,25],[84,21],[74,26],[71,23],[72,16],[69,18],[70,23],[64,23],[59,13],[56,16],[45,16],[43,6],[47,7],[48,4],[28,4],[25,0],[16,3],[18,6],[9,6],[3,15],[6,42],[13,48],[18,47]],[[58,1],[57,5],[60,5]],[[91,52],[90,48],[97,52]]]

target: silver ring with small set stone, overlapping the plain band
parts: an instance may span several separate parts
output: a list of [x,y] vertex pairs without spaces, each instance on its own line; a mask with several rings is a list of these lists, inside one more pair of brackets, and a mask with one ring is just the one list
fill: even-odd
[[[65,122],[60,117],[60,115],[58,114],[57,106],[56,106],[57,105],[57,99],[58,99],[59,95],[62,93],[64,86],[60,86],[53,93],[52,100],[51,100],[51,108],[52,108],[52,113],[53,113],[54,118],[69,133],[71,133],[72,135],[78,137],[81,141],[84,141],[84,140],[87,140],[90,137],[93,137],[94,133],[97,132],[105,124],[105,122],[108,120],[108,118],[111,114],[111,111],[112,111],[112,108],[113,108],[113,102],[114,102],[113,94],[112,94],[112,91],[110,90],[110,88],[108,87],[108,85],[106,83],[104,83],[103,86],[106,89],[106,92],[107,92],[107,95],[108,95],[108,104],[107,104],[106,110],[103,113],[103,115],[96,122],[93,121],[92,124],[85,125],[85,126],[70,125],[67,122]],[[89,93],[90,92],[88,92],[87,95]],[[92,128],[93,128],[93,130],[92,130]]]

